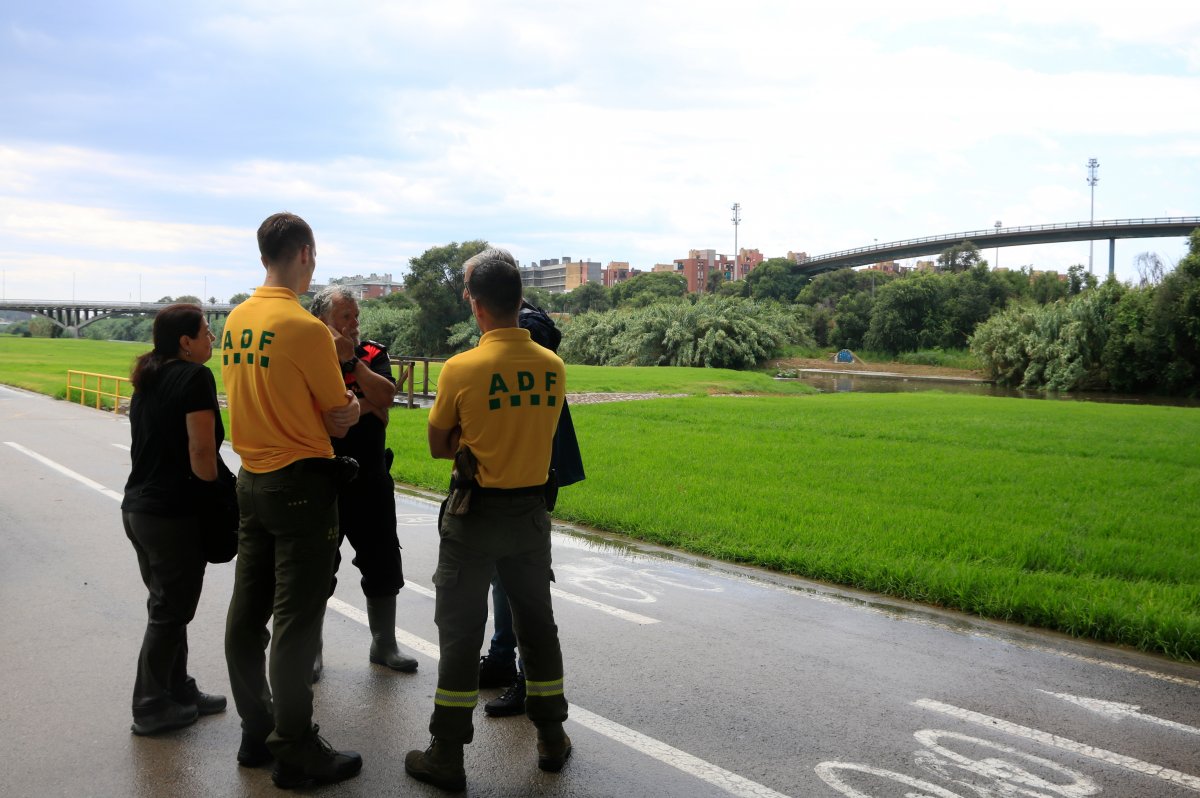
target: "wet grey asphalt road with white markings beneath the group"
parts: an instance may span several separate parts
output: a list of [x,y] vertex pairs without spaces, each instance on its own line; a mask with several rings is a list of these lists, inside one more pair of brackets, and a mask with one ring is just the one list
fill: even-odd
[[[277,794],[268,769],[236,767],[232,707],[158,738],[128,731],[145,623],[118,510],[128,440],[124,418],[0,388],[0,796]],[[420,671],[367,662],[347,547],[316,718],[365,767],[320,794],[443,794],[403,770],[436,686],[437,505],[396,500],[397,625]],[[480,709],[469,796],[1200,793],[1200,666],[583,530],[556,530],[554,562],[575,754],[541,773],[532,725]],[[232,581],[209,568],[190,628],[206,691],[228,694]]]

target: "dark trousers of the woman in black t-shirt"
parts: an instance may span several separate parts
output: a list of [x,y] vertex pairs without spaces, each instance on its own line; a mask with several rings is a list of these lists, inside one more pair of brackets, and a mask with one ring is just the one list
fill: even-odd
[[121,512],[121,521],[150,592],[133,683],[133,716],[143,718],[168,700],[196,700],[196,680],[187,674],[187,624],[196,617],[208,563],[194,517]]

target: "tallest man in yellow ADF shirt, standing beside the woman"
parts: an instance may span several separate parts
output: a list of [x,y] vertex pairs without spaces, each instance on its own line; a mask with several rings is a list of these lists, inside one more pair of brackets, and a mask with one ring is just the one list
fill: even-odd
[[241,456],[226,660],[241,715],[238,762],[253,767],[274,756],[271,779],[292,788],[362,769],[362,757],[334,750],[312,722],[312,661],[337,551],[338,473],[329,439],[346,434],[360,408],[342,382],[329,328],[298,301],[317,266],[312,228],[275,214],[258,228],[258,248],[266,277],[229,313],[221,350]]

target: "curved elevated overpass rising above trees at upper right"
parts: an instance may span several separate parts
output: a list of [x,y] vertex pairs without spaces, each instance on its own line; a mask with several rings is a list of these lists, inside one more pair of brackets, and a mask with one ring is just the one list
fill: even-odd
[[1109,241],[1109,276],[1116,266],[1116,239],[1186,238],[1200,227],[1200,216],[1165,218],[1120,218],[1098,222],[1062,222],[1028,227],[1001,227],[965,233],[929,235],[922,239],[874,244],[871,246],[818,254],[799,264],[800,274],[816,276],[848,266],[865,266],[881,260],[900,260],[941,254],[952,246],[971,241],[980,250],[1057,244],[1061,241]]

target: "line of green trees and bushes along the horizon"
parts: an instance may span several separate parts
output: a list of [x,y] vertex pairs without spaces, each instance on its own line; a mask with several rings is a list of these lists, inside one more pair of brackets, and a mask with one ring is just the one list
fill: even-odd
[[[462,264],[487,246],[451,242],[412,258],[404,292],[361,304],[362,336],[394,355],[449,356],[474,346]],[[970,348],[1004,385],[1195,395],[1200,230],[1176,269],[1144,253],[1139,272],[1138,284],[1102,284],[1082,265],[1066,278],[998,271],[966,241],[943,251],[934,270],[902,276],[841,269],[809,277],[772,258],[737,282],[710,275],[703,294],[689,294],[682,274],[665,271],[560,294],[529,287],[526,298],[558,313],[569,362],[754,368],[797,347],[890,356]],[[26,329],[38,324],[53,326],[35,317]],[[83,334],[149,341],[150,319],[103,319]]]

